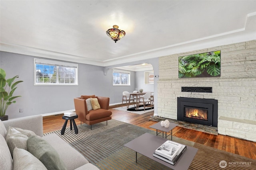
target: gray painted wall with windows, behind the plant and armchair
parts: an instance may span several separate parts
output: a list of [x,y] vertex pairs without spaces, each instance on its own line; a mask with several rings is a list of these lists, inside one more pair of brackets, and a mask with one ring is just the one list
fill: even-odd
[[[131,86],[112,86],[112,71],[104,75],[104,67],[78,64],[78,86],[34,86],[34,58],[28,55],[0,52],[0,67],[6,71],[6,78],[19,75],[14,95],[22,96],[11,104],[6,112],[9,118],[29,115],[63,113],[74,109],[73,99],[81,95],[107,96],[110,104],[122,102],[122,92],[135,89],[135,72],[131,72]],[[23,108],[23,113],[19,109]]]

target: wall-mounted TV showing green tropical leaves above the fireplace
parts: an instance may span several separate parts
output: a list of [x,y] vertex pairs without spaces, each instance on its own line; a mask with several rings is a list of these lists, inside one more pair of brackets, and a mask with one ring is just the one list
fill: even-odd
[[179,57],[179,78],[220,77],[220,51]]

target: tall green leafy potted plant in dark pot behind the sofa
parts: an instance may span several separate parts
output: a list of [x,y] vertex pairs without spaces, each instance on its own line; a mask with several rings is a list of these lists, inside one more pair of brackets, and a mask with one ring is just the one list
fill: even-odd
[[18,78],[19,76],[14,76],[13,78],[5,79],[6,72],[0,68],[0,119],[1,120],[8,120],[8,115],[5,115],[6,109],[10,104],[16,103],[14,101],[15,98],[21,97],[21,96],[12,96],[14,91],[17,87],[15,87],[17,84],[23,82],[23,81],[16,81],[14,80]]

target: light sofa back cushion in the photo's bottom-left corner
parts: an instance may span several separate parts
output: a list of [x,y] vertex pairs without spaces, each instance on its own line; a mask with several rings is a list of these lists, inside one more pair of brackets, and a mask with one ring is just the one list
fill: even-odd
[[12,156],[2,135],[0,135],[0,170],[12,170]]

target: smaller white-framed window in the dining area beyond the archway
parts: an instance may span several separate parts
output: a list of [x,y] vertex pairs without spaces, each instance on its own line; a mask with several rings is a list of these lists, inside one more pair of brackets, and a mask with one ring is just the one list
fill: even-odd
[[130,71],[113,69],[113,86],[130,86]]

